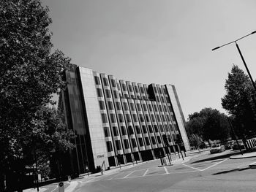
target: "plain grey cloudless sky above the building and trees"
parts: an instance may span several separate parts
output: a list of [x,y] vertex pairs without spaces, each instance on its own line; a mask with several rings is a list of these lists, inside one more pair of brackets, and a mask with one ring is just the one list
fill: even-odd
[[[185,119],[222,109],[236,45],[256,31],[255,0],[42,0],[50,9],[53,49],[71,63],[119,80],[176,86]],[[238,42],[256,78],[256,34]]]

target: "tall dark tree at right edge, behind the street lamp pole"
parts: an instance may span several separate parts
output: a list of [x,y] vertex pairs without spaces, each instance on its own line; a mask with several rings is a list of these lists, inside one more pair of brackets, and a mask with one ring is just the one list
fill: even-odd
[[254,89],[249,77],[236,65],[228,74],[225,90],[222,107],[232,115],[236,134],[241,139],[252,137],[256,134]]

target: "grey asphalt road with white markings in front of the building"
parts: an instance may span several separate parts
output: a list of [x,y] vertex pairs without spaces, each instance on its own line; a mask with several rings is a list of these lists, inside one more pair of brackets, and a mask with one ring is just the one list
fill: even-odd
[[203,153],[184,164],[149,161],[110,175],[82,178],[73,192],[256,191],[256,158],[230,159],[231,151]]

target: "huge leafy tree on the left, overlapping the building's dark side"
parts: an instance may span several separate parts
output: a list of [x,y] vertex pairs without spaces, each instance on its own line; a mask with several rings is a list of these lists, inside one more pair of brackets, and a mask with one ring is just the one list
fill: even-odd
[[54,104],[52,94],[64,88],[62,74],[70,61],[52,51],[48,11],[39,0],[0,1],[0,169],[5,172],[12,162],[25,161],[34,142],[44,146],[48,138],[49,146],[71,146],[58,118],[53,132],[45,128],[49,118],[56,118],[45,106]]

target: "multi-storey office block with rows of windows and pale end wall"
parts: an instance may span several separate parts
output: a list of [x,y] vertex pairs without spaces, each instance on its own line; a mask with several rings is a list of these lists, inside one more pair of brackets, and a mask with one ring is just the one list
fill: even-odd
[[66,72],[66,79],[59,108],[77,135],[69,154],[71,172],[159,158],[178,150],[177,135],[189,150],[174,85],[118,80],[81,66]]

